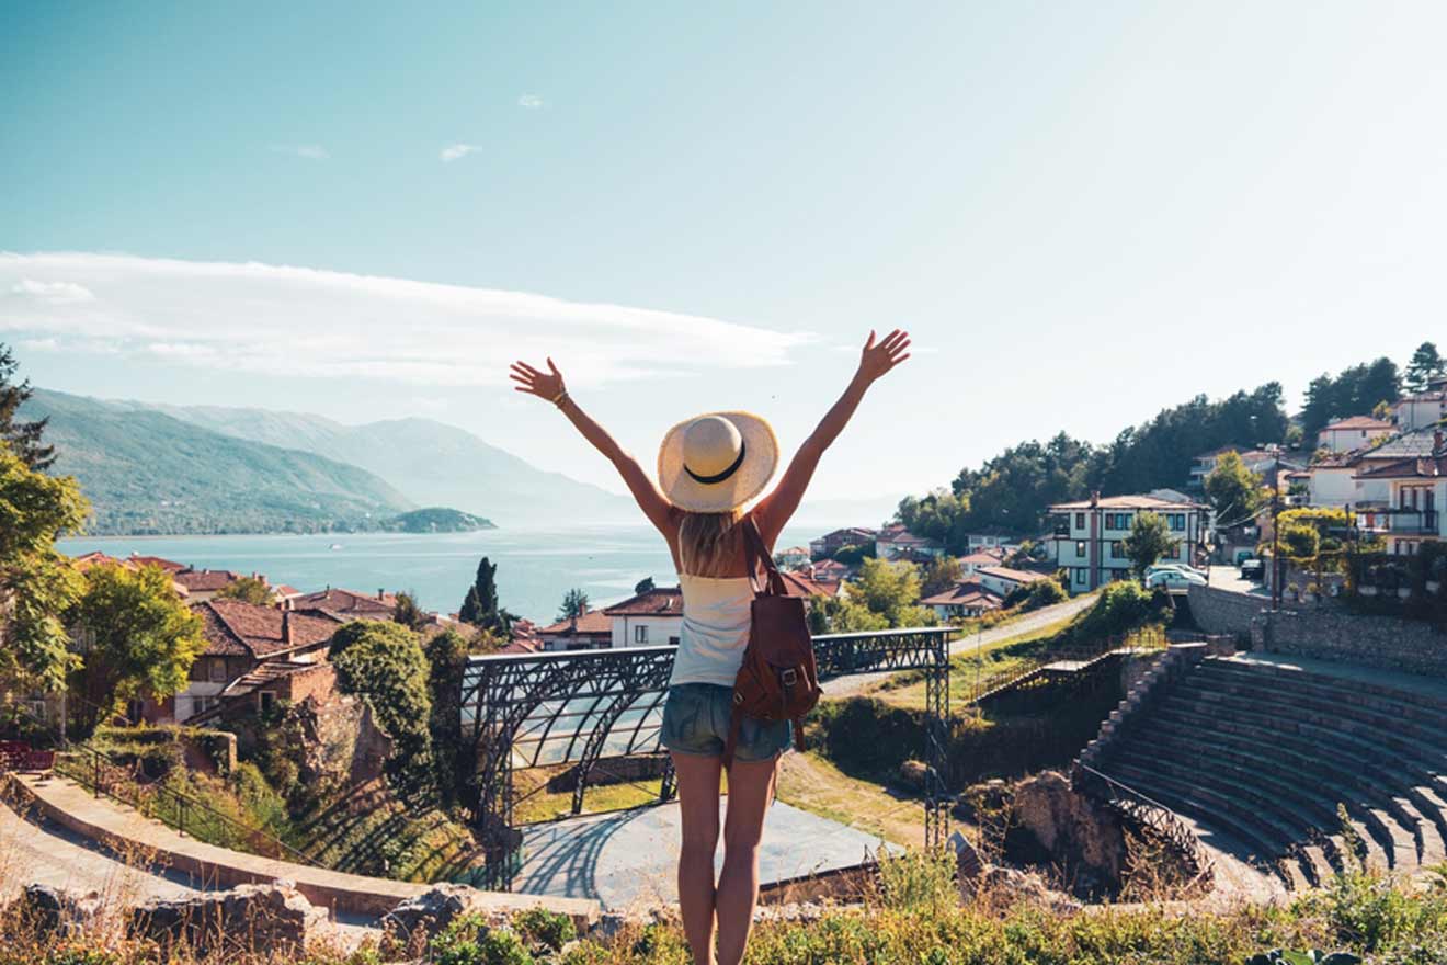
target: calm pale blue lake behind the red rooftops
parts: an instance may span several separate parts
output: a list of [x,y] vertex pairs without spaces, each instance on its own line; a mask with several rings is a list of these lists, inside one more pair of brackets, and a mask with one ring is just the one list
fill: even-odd
[[[790,525],[778,545],[807,545],[810,537],[836,525]],[[424,609],[444,613],[462,606],[478,560],[486,556],[498,564],[502,605],[543,624],[556,618],[563,595],[574,586],[595,605],[605,605],[631,596],[645,576],[660,586],[676,583],[669,548],[647,524],[447,534],[80,537],[62,540],[59,548],[71,556],[140,553],[195,567],[256,571],[308,592],[326,586],[363,593],[411,590]]]

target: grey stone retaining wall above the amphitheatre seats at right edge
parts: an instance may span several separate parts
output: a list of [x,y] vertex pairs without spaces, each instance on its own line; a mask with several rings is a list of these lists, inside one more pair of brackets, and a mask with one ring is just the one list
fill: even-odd
[[1431,624],[1395,616],[1357,616],[1337,609],[1262,612],[1252,621],[1252,648],[1447,674],[1447,634]]

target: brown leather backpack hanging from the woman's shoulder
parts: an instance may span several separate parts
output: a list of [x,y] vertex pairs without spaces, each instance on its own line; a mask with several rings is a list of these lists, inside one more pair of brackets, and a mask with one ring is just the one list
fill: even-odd
[[[734,764],[734,747],[745,715],[758,720],[792,720],[794,745],[803,749],[803,716],[813,710],[823,693],[819,690],[819,668],[815,664],[805,602],[797,596],[787,596],[784,577],[768,556],[768,547],[752,516],[745,516],[741,525],[754,600],[744,663],[734,680],[734,713],[724,745],[725,767]],[[767,576],[763,586],[758,583],[760,569]]]

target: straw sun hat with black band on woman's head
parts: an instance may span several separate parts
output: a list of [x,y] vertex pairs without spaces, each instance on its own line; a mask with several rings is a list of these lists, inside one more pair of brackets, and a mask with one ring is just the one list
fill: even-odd
[[778,466],[774,430],[752,412],[679,422],[658,449],[658,485],[689,512],[728,512],[763,492]]

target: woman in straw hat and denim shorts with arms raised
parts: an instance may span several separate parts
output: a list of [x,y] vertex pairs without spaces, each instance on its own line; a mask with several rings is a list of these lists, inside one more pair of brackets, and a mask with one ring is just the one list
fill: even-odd
[[[729,765],[724,819],[724,871],[713,880],[719,838],[719,780],[728,741],[734,679],[748,644],[748,573],[742,524],[751,522],[773,553],[813,479],[819,459],[844,431],[875,379],[909,357],[909,334],[891,331],[864,346],[860,367],[839,401],[805,440],[783,479],[747,512],[778,463],[778,443],[763,418],[710,412],[680,422],[664,435],[654,482],[603,427],[567,394],[563,373],[524,362],[512,365],[519,392],[544,398],[601,451],[622,476],[638,508],[669,543],[683,589],[683,628],[663,709],[663,745],[679,775],[683,842],[679,852],[679,904],[697,965],[738,965],[744,958],[758,900],[758,842],[773,800],[778,757],[789,749],[789,722],[742,720]],[[718,958],[713,927],[718,922]]]

